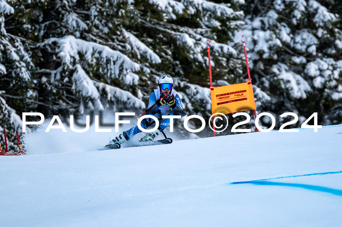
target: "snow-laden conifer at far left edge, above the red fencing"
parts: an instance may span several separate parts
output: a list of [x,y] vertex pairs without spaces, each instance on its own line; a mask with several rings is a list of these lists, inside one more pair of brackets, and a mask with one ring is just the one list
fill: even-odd
[[6,130],[9,150],[19,151],[16,132],[21,132],[22,122],[13,108],[17,111],[25,108],[25,99],[31,95],[29,70],[34,65],[25,51],[24,40],[5,29],[5,18],[13,13],[13,7],[0,0],[0,143],[4,147],[3,131]]

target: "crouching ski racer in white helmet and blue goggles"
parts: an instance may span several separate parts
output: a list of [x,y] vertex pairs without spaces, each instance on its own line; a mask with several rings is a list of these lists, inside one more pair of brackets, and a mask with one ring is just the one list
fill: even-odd
[[[182,103],[179,95],[172,91],[173,79],[170,75],[160,76],[158,79],[159,89],[155,89],[150,94],[149,106],[146,114],[153,115],[159,120],[159,127],[154,132],[148,132],[141,141],[153,141],[156,135],[159,135],[165,128],[170,125],[170,118],[162,118],[162,115],[181,115],[185,116],[186,113],[182,109]],[[173,120],[173,119],[172,119]],[[145,118],[141,121],[141,127],[147,129],[149,126],[155,124],[152,118]],[[130,137],[142,132],[138,126],[135,126],[128,131],[123,132],[115,139],[112,139],[109,144],[123,144],[128,141]]]

